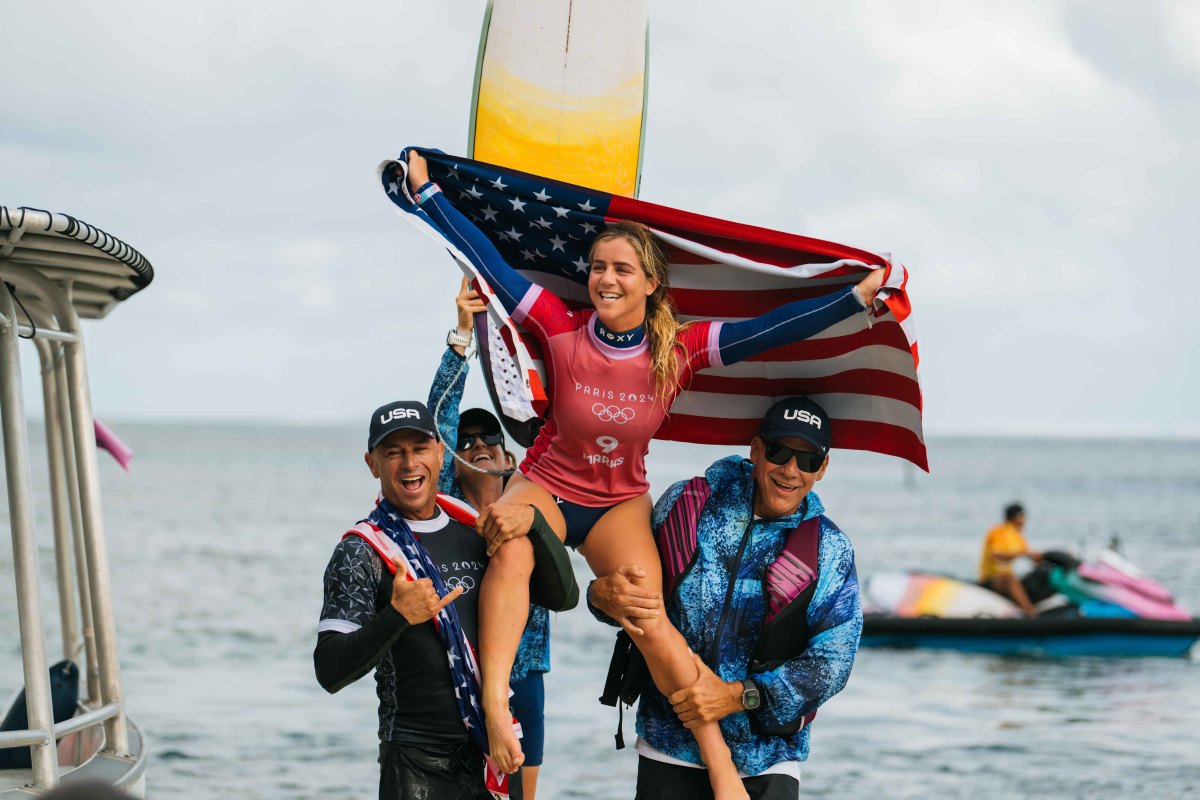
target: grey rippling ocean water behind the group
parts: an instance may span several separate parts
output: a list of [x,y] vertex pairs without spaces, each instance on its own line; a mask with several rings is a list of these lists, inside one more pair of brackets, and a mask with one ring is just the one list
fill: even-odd
[[[320,578],[374,486],[358,428],[120,426],[124,474],[102,456],[106,530],[131,717],[149,738],[149,796],[371,798],[376,699],[326,694],[312,670]],[[41,429],[31,428],[35,452]],[[656,443],[655,491],[726,455]],[[860,575],[970,576],[1012,500],[1042,549],[1124,554],[1200,608],[1200,443],[932,439],[932,474],[835,453],[818,493]],[[35,471],[48,648],[44,463]],[[0,522],[7,540],[7,512]],[[0,697],[20,684],[12,551],[0,543]],[[578,561],[581,579],[587,567]],[[636,757],[613,750],[600,693],[612,633],[586,610],[552,622],[541,796],[630,798]],[[863,650],[812,729],[802,796],[1200,796],[1200,660],[1030,660]],[[625,721],[632,740],[632,722]]]

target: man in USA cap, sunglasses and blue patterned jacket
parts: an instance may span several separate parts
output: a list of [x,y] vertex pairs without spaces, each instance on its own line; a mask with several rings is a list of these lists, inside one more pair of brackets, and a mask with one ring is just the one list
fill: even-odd
[[[712,798],[689,729],[719,721],[755,800],[799,795],[809,722],[850,678],[863,628],[854,551],[812,492],[829,467],[830,420],[806,397],[779,401],[750,443],[680,481],[654,506],[666,615],[700,678],[637,709],[637,800]],[[664,609],[628,565],[588,589],[601,621],[640,636]],[[724,602],[722,602],[724,600]]]

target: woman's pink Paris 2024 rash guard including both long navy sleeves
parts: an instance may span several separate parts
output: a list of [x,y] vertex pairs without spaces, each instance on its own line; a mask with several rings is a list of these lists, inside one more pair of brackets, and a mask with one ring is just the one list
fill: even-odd
[[[421,193],[431,186],[422,186]],[[571,311],[514,270],[440,191],[426,196],[421,207],[487,279],[514,321],[541,341],[550,408],[520,469],[552,494],[583,506],[614,505],[649,491],[650,439],[694,373],[808,338],[864,309],[847,287],[738,323],[692,323],[677,337],[683,345],[678,380],[671,395],[660,398],[646,341],[630,348],[601,341],[594,309]]]

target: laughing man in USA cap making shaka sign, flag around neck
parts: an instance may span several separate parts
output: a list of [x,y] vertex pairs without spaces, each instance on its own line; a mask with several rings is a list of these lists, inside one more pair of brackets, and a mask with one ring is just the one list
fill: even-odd
[[[342,535],[325,569],[317,680],[332,693],[374,670],[382,800],[491,800],[492,790],[520,798],[518,783],[509,787],[485,766],[473,666],[487,542],[474,510],[438,493],[443,453],[422,403],[397,401],[371,415],[365,461],[379,498]],[[546,552],[539,546],[557,546],[559,563],[569,564],[539,513],[498,505],[488,524],[521,527],[536,540],[535,555]],[[574,606],[578,589],[569,570],[539,555],[535,575],[530,591],[539,602]]]

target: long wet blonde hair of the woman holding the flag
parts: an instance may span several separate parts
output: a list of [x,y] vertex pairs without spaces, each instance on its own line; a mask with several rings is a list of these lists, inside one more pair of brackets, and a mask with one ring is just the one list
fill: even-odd
[[691,323],[680,323],[674,303],[667,293],[671,290],[671,273],[667,251],[654,237],[650,229],[636,222],[616,222],[608,225],[588,249],[588,260],[595,254],[600,242],[624,239],[634,248],[642,272],[649,281],[658,281],[654,293],[646,299],[646,342],[650,349],[650,372],[654,374],[655,393],[666,402],[679,379],[679,359],[676,355],[686,354],[679,342],[679,332]]

